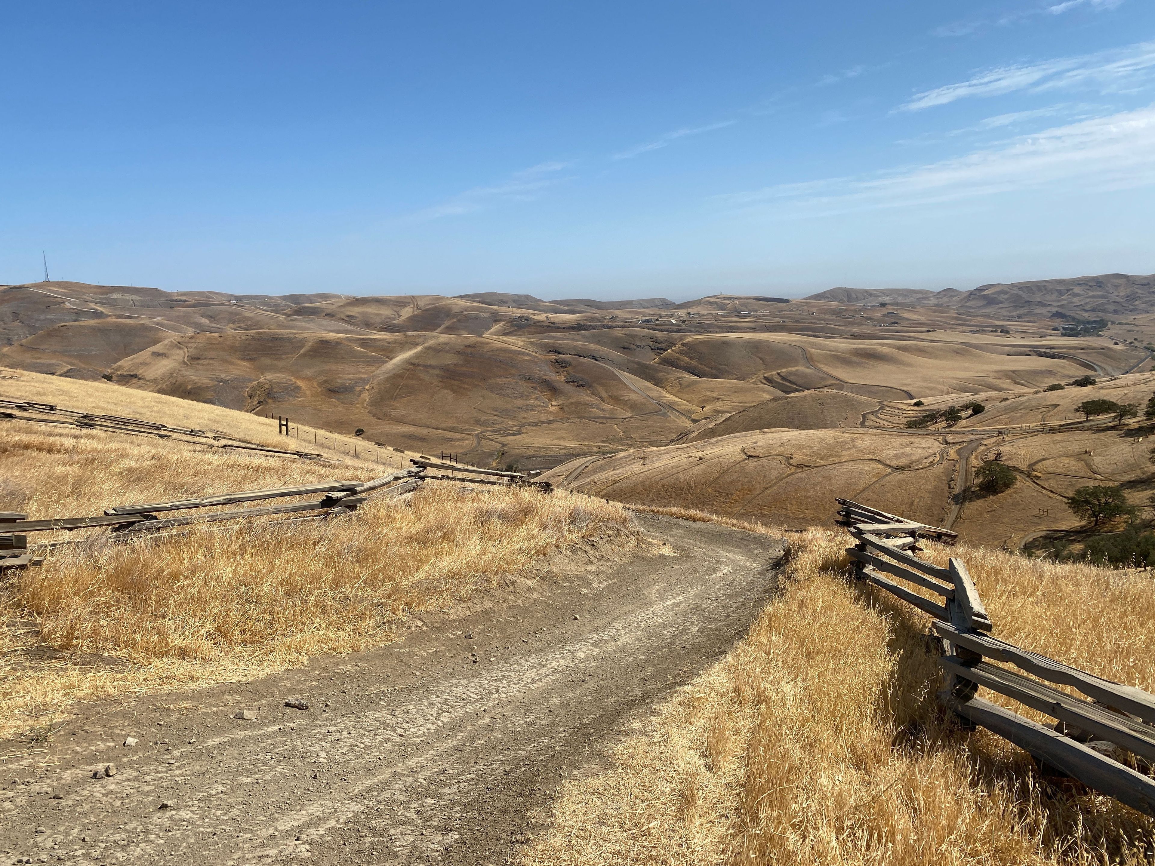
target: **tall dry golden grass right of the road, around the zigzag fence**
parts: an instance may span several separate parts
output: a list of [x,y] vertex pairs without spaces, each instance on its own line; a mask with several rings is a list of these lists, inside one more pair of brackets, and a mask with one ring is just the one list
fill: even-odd
[[[844,533],[791,540],[782,595],[610,771],[564,786],[526,864],[1152,860],[1155,822],[1052,787],[1024,753],[938,710],[925,618],[848,580]],[[1150,686],[1149,580],[951,554],[971,565],[999,636]]]

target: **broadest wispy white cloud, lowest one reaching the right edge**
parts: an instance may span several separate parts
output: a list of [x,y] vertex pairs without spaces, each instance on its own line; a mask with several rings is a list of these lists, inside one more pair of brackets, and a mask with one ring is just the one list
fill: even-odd
[[1029,188],[1102,191],[1155,184],[1155,105],[967,156],[869,177],[827,178],[717,196],[732,210],[824,216],[973,199]]

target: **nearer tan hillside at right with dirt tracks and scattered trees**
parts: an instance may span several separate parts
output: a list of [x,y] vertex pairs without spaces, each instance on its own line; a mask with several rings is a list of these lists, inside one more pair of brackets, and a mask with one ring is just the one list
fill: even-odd
[[[576,460],[543,476],[595,497],[657,507],[686,507],[803,529],[829,524],[843,497],[957,531],[964,540],[1018,548],[1082,523],[1067,498],[1082,486],[1122,485],[1131,503],[1155,493],[1155,427],[1141,417],[1089,420],[1086,401],[1131,403],[1155,397],[1155,374],[1137,373],[1061,390],[978,394],[984,411],[957,423],[910,428],[957,395],[878,402],[837,391],[807,391],[692,428],[664,448]],[[989,460],[1016,483],[994,495],[975,487]]]

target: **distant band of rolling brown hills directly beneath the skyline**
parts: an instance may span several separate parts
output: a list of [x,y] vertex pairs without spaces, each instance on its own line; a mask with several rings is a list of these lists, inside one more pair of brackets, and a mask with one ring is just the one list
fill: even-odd
[[[1133,306],[1147,291],[1146,278],[1096,279],[1102,285],[1016,284],[1031,303],[1013,311],[930,304],[909,290],[886,290],[889,301],[832,290],[819,300],[718,294],[672,304],[35,283],[0,290],[0,365],[546,469],[706,430],[848,427],[884,403],[1147,368],[1143,316],[1098,336],[1055,330],[1068,321],[1049,318],[1056,304],[1082,309],[1075,301],[1094,290]],[[1038,301],[1048,291],[1050,306]],[[847,396],[811,408],[781,400],[829,391]]]

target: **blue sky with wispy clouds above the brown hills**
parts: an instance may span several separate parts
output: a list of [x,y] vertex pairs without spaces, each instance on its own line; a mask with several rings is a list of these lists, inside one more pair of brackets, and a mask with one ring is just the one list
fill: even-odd
[[0,6],[0,282],[797,296],[1155,271],[1155,3]]

